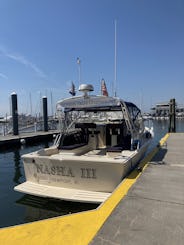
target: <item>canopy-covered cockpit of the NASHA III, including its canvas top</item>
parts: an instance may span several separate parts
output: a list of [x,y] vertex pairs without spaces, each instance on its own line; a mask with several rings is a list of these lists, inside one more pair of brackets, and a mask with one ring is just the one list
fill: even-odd
[[[106,152],[135,150],[143,132],[140,110],[114,97],[72,97],[58,103],[62,108],[63,131],[55,144],[59,150],[106,149]],[[77,150],[76,150],[77,151]],[[83,151],[82,151],[83,152]]]

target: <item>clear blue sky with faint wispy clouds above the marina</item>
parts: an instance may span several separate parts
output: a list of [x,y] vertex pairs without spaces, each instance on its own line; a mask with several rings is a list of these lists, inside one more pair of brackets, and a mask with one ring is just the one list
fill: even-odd
[[[175,98],[184,104],[183,0],[0,0],[0,116],[49,113],[73,82],[105,79],[116,93],[149,112]],[[80,95],[78,92],[77,95]],[[52,99],[51,99],[52,98]],[[51,109],[52,108],[52,109]]]

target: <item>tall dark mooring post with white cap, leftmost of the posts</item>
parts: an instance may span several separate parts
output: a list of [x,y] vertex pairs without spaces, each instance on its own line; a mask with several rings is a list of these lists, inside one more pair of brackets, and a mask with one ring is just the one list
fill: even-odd
[[15,92],[11,94],[11,102],[12,102],[13,135],[18,135],[19,134],[18,108],[17,108],[17,94]]

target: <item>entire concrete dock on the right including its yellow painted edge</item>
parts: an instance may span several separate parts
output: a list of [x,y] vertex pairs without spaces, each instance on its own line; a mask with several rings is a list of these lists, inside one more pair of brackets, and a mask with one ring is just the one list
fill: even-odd
[[184,133],[171,133],[97,209],[0,229],[0,244],[183,245]]

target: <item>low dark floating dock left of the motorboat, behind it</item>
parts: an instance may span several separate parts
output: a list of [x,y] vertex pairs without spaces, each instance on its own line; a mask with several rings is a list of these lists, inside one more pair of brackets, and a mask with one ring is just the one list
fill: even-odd
[[37,131],[33,133],[21,133],[19,135],[0,136],[0,150],[20,146],[21,144],[33,144],[46,140],[52,140],[58,130],[49,130],[48,132]]

